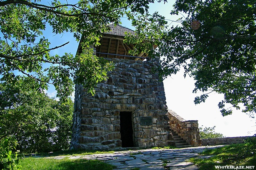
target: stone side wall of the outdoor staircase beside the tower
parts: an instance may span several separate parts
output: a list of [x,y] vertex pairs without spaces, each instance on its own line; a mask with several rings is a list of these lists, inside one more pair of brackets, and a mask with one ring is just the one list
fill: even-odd
[[198,121],[186,121],[172,110],[168,110],[170,127],[192,146],[200,146]]

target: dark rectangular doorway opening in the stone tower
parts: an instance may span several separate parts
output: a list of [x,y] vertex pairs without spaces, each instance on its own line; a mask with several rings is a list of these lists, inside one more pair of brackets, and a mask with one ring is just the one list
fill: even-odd
[[120,112],[122,147],[133,147],[132,112]]

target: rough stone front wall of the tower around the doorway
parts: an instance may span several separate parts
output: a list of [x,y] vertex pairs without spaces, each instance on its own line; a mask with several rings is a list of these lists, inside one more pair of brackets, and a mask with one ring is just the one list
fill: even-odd
[[[107,81],[95,87],[95,96],[76,85],[70,149],[120,148],[120,111],[132,112],[134,146],[175,145],[168,131],[164,85],[158,81],[158,74],[152,71],[158,61],[110,60],[115,69],[108,73]],[[152,118],[152,124],[142,125],[143,117]]]

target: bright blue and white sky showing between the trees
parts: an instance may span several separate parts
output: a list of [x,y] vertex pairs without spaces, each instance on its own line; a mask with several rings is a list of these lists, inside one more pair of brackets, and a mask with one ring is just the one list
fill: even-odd
[[[171,16],[170,11],[174,1],[168,3],[156,3],[150,5],[150,12],[159,11],[166,19],[176,20],[180,16]],[[174,23],[173,23],[174,24]],[[122,18],[122,26],[134,29],[131,23]],[[62,48],[56,49],[51,53],[64,54],[64,52],[76,54],[78,42],[73,38],[73,34],[64,33],[63,35],[52,36],[51,30],[45,31],[45,36],[51,42],[51,47],[59,46],[70,41]],[[221,116],[218,103],[223,99],[221,94],[211,94],[205,103],[194,104],[194,99],[198,94],[193,94],[195,81],[188,76],[184,79],[183,72],[172,75],[164,80],[166,102],[169,109],[175,111],[185,120],[198,120],[199,126],[216,126],[216,132],[224,134],[227,137],[251,136],[256,133],[255,119],[250,118],[239,110],[234,110],[232,115]],[[54,97],[56,92],[53,87],[47,91],[50,97]],[[73,96],[74,98],[74,96]]]

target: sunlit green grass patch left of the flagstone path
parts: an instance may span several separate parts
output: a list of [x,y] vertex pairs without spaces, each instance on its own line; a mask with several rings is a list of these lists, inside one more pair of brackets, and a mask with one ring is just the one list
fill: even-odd
[[87,159],[46,159],[24,158],[20,160],[22,169],[26,170],[112,170],[115,166],[106,164],[100,160]]

